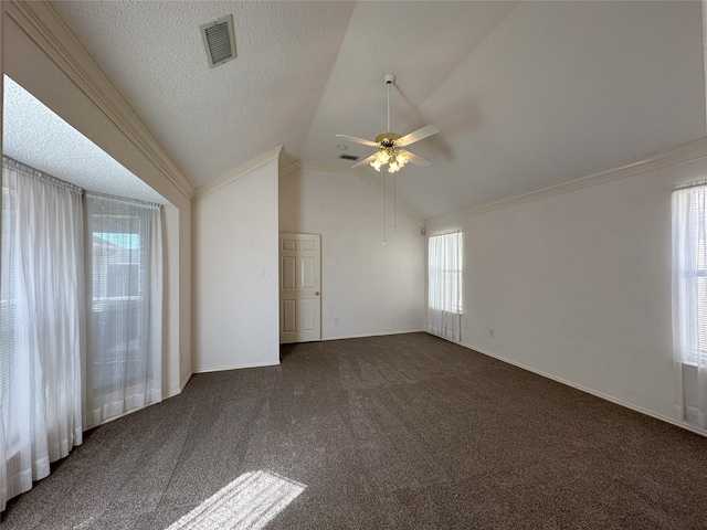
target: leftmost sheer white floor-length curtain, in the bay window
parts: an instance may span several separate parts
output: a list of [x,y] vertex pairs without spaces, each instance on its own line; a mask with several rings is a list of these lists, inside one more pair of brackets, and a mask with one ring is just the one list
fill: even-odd
[[3,158],[0,509],[82,443],[81,190]]

